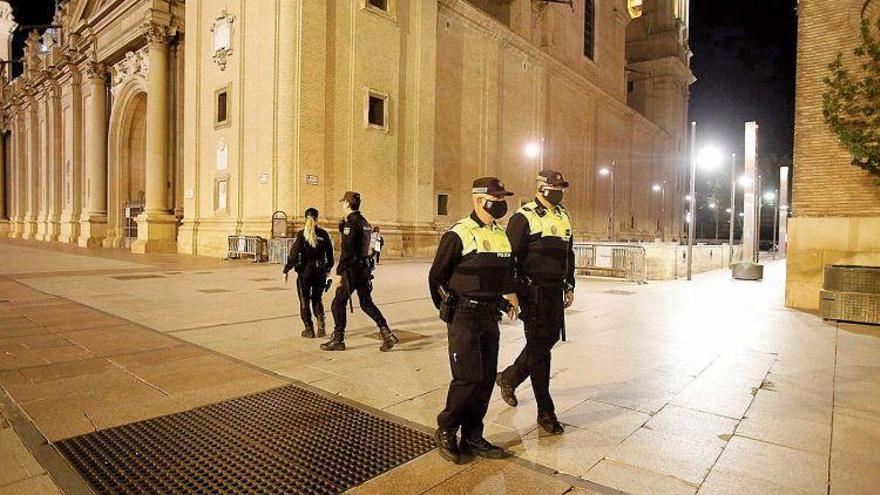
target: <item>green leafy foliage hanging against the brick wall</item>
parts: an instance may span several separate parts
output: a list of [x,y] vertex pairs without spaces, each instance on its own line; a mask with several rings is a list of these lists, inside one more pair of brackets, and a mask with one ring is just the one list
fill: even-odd
[[852,164],[880,176],[880,40],[867,19],[862,21],[861,39],[853,51],[862,59],[858,74],[844,66],[842,53],[828,66],[831,75],[824,79],[827,91],[822,95],[822,113],[852,155]]

